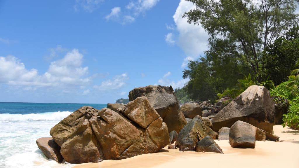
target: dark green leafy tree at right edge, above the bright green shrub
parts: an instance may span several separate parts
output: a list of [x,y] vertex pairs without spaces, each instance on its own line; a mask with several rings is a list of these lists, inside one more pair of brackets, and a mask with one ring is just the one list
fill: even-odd
[[[275,85],[288,80],[289,72],[294,69],[294,60],[299,59],[299,26],[291,28],[285,36],[276,39],[263,51],[260,77],[271,76]],[[299,64],[299,62],[297,62]],[[292,71],[298,74],[299,69]]]

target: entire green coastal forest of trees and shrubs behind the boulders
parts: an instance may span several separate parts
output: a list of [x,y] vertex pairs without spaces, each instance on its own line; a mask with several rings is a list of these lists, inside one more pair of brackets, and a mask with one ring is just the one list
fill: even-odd
[[209,34],[208,50],[189,61],[175,89],[180,103],[237,97],[251,85],[265,86],[284,106],[283,126],[299,129],[299,26],[297,0],[188,0],[188,23]]

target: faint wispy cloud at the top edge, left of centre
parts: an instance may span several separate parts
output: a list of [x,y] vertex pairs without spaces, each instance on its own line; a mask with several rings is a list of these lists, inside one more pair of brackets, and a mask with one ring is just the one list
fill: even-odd
[[99,6],[100,3],[103,2],[104,0],[76,0],[76,4],[74,5],[74,10],[79,11],[79,7],[82,7],[83,10],[86,12],[93,12],[96,10]]

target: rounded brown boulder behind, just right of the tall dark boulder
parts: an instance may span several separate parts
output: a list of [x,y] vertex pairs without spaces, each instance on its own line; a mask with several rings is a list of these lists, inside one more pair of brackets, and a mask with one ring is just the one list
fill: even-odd
[[194,118],[199,115],[202,116],[202,109],[196,103],[185,103],[181,106],[181,112],[185,118]]

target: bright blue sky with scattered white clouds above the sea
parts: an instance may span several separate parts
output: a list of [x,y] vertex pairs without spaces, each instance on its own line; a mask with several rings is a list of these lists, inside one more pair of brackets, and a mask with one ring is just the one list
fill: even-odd
[[181,88],[208,34],[185,0],[0,0],[0,102],[114,103]]

